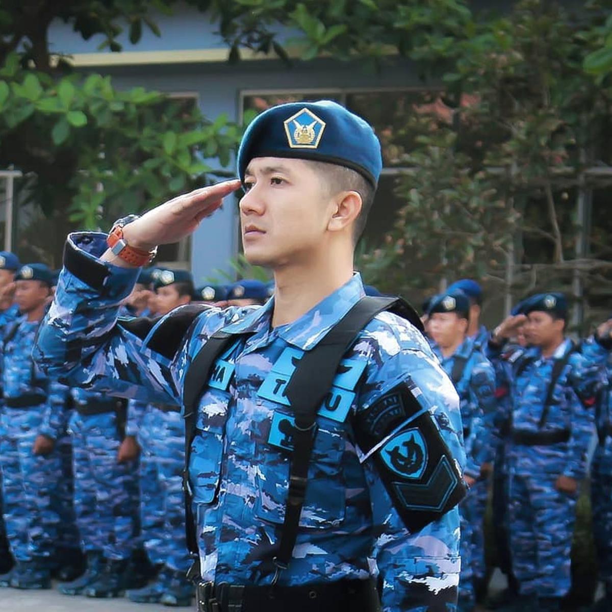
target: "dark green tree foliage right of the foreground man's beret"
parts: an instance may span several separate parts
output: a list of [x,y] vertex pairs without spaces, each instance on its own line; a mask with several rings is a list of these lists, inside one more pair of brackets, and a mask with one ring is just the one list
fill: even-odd
[[[424,89],[442,86],[392,135],[411,143],[397,160],[411,170],[397,181],[394,228],[362,249],[370,282],[433,293],[470,275],[507,294],[506,307],[551,286],[612,292],[612,228],[589,245],[579,215],[611,182],[609,1],[521,0],[497,16],[455,0],[212,4],[236,57],[250,47],[287,58],[299,42],[301,59],[409,60]],[[299,34],[281,40],[278,24]]]

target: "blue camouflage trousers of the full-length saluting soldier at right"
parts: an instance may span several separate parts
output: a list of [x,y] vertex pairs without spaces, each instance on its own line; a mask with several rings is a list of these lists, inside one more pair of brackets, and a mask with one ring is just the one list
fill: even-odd
[[577,500],[554,487],[560,472],[510,470],[510,550],[521,594],[562,597],[570,589]]

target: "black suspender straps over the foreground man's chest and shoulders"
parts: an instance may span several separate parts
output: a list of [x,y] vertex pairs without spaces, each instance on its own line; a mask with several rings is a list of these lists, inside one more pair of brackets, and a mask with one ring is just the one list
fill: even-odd
[[[274,580],[291,561],[297,539],[300,514],[304,505],[308,479],[308,465],[316,435],[316,413],[332,387],[338,365],[356,340],[359,332],[378,313],[397,310],[418,329],[422,324],[418,315],[406,302],[395,297],[363,297],[338,321],[327,335],[300,359],[291,376],[285,395],[291,403],[295,417],[294,449],[289,471],[289,491],[285,506],[285,520],[278,553],[274,558],[276,574]],[[197,400],[206,386],[212,365],[217,356],[229,348],[239,336],[217,332],[197,354],[185,375],[185,513],[187,545],[193,553],[198,552],[195,524],[192,513],[192,491],[188,482],[189,455],[197,418]]]

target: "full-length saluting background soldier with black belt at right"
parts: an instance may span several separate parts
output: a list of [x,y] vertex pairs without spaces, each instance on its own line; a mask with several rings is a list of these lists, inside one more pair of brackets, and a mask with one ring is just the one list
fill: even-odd
[[[562,294],[526,300],[523,315],[491,337],[500,351],[525,325],[530,348],[506,371],[512,427],[509,445],[509,536],[520,597],[508,610],[559,610],[570,589],[570,549],[578,483],[594,431],[595,394],[605,381],[565,338]],[[537,602],[537,603],[535,603]]]

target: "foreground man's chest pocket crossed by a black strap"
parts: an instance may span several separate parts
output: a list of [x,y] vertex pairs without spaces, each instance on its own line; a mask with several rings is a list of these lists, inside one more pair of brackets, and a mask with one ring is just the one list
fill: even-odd
[[[319,419],[323,421],[324,419]],[[286,433],[280,420],[280,431]],[[272,427],[272,423],[271,423]],[[346,484],[342,471],[345,441],[342,431],[319,423],[313,447],[308,484],[300,527],[326,529],[338,526],[345,518]],[[264,521],[282,524],[289,490],[291,450],[258,442],[256,472],[258,499],[255,515]]]

